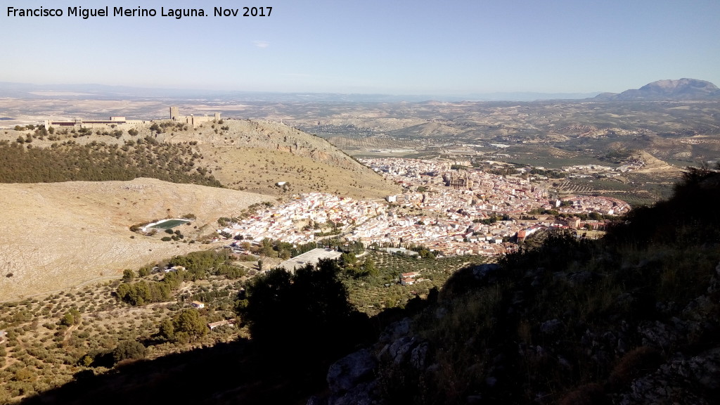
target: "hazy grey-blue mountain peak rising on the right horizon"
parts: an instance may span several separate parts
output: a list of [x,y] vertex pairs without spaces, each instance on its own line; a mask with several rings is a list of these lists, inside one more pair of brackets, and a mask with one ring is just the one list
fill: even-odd
[[658,80],[639,89],[630,89],[619,94],[598,94],[594,99],[603,101],[720,100],[720,89],[709,81],[698,79]]

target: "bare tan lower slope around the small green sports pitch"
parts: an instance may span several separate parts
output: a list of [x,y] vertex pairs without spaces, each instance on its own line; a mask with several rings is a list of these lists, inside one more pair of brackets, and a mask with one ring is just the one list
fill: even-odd
[[[0,184],[0,301],[118,278],[126,268],[203,249],[189,241],[271,197],[156,179]],[[135,223],[194,214],[182,242],[130,231]],[[132,238],[132,239],[131,239]]]

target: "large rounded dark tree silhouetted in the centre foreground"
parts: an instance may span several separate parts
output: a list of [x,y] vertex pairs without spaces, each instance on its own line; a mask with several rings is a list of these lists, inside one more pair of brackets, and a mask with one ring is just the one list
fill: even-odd
[[238,303],[253,341],[282,357],[323,362],[369,343],[369,319],[348,302],[341,270],[323,259],[292,275],[276,269],[255,277]]

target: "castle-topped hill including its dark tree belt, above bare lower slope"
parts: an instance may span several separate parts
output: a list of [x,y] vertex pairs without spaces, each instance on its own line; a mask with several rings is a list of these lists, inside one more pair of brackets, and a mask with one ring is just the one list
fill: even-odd
[[[91,164],[86,169],[86,177],[81,176],[84,173],[81,170],[81,174],[72,172],[66,180],[145,176],[222,185],[266,195],[334,192],[351,197],[384,197],[398,191],[394,184],[385,182],[379,174],[328,141],[281,123],[220,120],[192,128],[163,120],[137,125],[134,130],[136,132],[130,133],[129,130],[95,128],[75,132],[53,128],[52,134],[42,128],[6,130],[0,135],[0,141],[31,149],[49,148],[52,153],[35,150],[25,154],[38,155],[41,161],[89,156],[85,159],[86,164]],[[11,156],[7,150],[0,149],[0,161],[18,161],[17,151],[9,149],[13,152]],[[58,171],[49,168],[45,177],[30,171],[23,174],[30,180],[17,179],[17,173],[22,173],[23,168],[40,165],[29,161],[17,166],[13,169],[15,178],[10,182],[58,181],[50,178],[57,177]],[[78,166],[78,163],[68,161],[66,166]],[[140,168],[140,172],[135,168]],[[99,171],[102,173],[98,174]],[[277,187],[277,182],[289,184]]]

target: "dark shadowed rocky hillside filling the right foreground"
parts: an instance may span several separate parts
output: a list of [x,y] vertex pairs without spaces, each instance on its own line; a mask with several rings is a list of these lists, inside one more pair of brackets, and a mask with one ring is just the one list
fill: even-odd
[[720,172],[691,170],[604,239],[540,233],[456,272],[313,403],[716,403],[720,215],[700,201],[720,204]]

